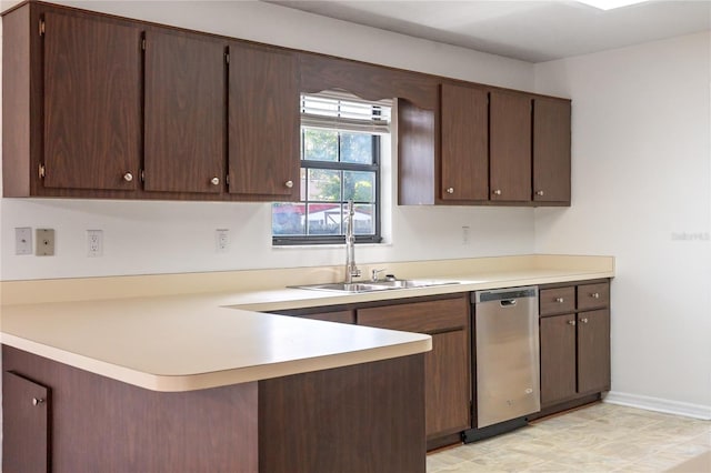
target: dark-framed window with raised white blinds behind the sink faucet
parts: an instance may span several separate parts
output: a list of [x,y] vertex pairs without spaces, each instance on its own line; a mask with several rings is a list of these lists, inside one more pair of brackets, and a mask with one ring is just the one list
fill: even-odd
[[301,200],[272,204],[276,245],[342,243],[349,200],[358,242],[380,242],[380,147],[390,105],[301,95]]

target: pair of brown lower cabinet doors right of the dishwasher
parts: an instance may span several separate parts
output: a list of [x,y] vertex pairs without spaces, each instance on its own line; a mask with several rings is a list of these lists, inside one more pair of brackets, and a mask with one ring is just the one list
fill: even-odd
[[610,390],[609,309],[541,318],[541,406]]

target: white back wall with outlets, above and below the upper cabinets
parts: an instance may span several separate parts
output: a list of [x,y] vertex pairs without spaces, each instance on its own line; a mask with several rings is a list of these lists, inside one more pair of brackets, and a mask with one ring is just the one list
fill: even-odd
[[[273,4],[238,2],[66,2],[107,13],[522,90],[533,67]],[[11,2],[3,2],[7,8]],[[390,170],[389,182],[393,182]],[[392,200],[394,189],[389,193]],[[533,251],[532,209],[397,208],[388,244],[361,246],[360,262],[468,258]],[[267,203],[0,200],[0,279],[220,271],[339,264],[342,248],[274,249]],[[462,244],[461,228],[471,228]],[[57,255],[16,256],[14,228],[53,228]],[[214,230],[232,249],[214,251]],[[86,230],[104,232],[104,255],[87,258]]]

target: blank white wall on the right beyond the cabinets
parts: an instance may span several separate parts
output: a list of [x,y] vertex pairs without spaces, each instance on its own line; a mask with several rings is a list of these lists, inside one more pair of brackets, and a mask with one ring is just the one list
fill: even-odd
[[535,66],[573,100],[572,207],[535,211],[535,250],[617,258],[611,399],[707,417],[710,52],[701,33]]

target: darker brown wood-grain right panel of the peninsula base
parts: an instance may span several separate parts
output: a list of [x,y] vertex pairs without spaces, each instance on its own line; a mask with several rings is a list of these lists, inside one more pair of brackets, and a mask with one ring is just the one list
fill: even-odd
[[261,473],[424,473],[422,354],[259,382]]

